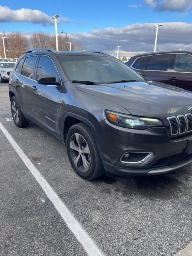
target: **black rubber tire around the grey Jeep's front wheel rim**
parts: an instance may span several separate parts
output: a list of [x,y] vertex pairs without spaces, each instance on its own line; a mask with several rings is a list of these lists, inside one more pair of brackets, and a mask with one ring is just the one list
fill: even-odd
[[[80,167],[83,168],[82,166],[78,167],[74,164],[74,157],[76,156],[73,157],[73,154],[74,154],[73,152],[76,152],[76,155],[78,154],[80,155],[80,153],[78,153],[76,150],[72,150],[70,148],[70,145],[71,145],[70,142],[72,141],[72,138],[74,138],[75,134],[80,134],[80,138],[82,139],[82,141],[85,142],[86,145],[88,145],[88,149],[90,152],[90,158],[89,158],[90,162],[89,162],[88,170],[86,171],[80,170]],[[70,160],[71,166],[79,176],[81,176],[85,180],[94,180],[105,173],[102,160],[100,157],[100,153],[96,145],[95,138],[90,128],[86,124],[78,123],[70,127],[70,129],[68,130],[67,138],[66,138],[66,146],[67,146],[67,153],[68,153],[68,158]],[[86,158],[88,156],[89,154],[86,154]],[[80,157],[82,158],[82,156]],[[82,161],[82,165],[84,166],[83,161]]]

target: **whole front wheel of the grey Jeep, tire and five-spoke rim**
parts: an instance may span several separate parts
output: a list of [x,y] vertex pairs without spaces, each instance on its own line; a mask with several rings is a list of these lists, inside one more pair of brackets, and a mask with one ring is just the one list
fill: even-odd
[[71,166],[79,176],[94,180],[105,173],[95,138],[86,124],[78,123],[70,127],[66,146]]

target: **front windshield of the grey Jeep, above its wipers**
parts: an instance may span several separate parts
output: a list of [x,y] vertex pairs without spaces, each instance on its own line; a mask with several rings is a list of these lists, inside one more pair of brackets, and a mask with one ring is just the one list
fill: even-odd
[[70,81],[96,83],[145,81],[142,76],[119,60],[104,56],[58,56],[58,60]]

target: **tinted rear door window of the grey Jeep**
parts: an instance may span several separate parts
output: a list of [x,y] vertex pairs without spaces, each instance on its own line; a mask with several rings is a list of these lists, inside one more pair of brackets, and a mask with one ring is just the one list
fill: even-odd
[[21,74],[28,78],[33,78],[33,74],[35,71],[37,56],[27,57],[24,61],[23,68]]

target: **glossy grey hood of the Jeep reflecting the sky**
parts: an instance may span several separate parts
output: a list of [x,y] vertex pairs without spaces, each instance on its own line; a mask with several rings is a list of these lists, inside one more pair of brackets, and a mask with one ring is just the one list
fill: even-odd
[[150,81],[77,85],[77,88],[118,104],[136,116],[165,117],[192,112],[188,110],[192,107],[192,92],[168,84]]

